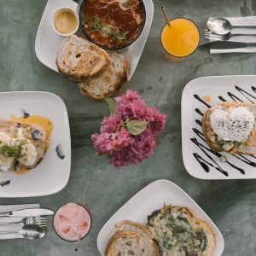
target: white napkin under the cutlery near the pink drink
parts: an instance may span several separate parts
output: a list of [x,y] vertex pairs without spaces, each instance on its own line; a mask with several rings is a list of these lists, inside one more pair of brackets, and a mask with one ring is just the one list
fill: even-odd
[[[23,210],[27,208],[39,208],[39,204],[26,204],[26,205],[0,205],[0,212],[10,212],[15,210]],[[25,217],[0,217],[0,223],[12,223],[21,221]]]

